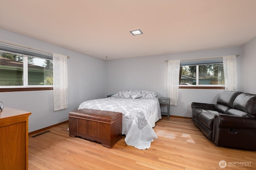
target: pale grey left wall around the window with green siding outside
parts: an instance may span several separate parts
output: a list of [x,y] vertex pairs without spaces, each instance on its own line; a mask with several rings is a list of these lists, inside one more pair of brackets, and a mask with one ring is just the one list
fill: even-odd
[[106,61],[45,43],[24,35],[0,29],[0,41],[8,41],[68,55],[68,109],[53,111],[52,90],[28,92],[0,92],[5,107],[32,112],[29,132],[68,120],[68,113],[85,100],[104,98]]

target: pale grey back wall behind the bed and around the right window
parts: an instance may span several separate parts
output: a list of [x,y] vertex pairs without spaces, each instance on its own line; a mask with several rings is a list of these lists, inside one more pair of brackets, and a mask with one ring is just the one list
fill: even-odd
[[[230,47],[188,53],[173,53],[132,59],[107,61],[106,94],[115,94],[119,90],[152,90],[159,97],[166,97],[166,60],[200,59],[237,55],[238,90],[242,91],[241,61],[242,47]],[[223,90],[212,89],[179,89],[178,106],[170,106],[170,114],[192,117],[191,102],[215,104]]]

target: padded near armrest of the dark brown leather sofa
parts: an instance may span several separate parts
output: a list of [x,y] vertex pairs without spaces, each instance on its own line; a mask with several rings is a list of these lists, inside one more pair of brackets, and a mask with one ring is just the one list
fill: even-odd
[[256,129],[256,119],[249,117],[216,114],[214,120],[217,128]]

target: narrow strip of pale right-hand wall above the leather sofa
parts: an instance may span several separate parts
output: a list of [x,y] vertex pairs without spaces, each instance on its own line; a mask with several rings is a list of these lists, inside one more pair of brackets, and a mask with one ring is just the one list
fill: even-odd
[[256,94],[256,37],[243,45],[244,92]]

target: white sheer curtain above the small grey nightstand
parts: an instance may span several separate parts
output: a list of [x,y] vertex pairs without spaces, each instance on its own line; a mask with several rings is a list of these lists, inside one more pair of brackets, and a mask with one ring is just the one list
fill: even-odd
[[170,98],[170,105],[177,106],[179,92],[180,60],[172,60],[167,62],[167,97]]

